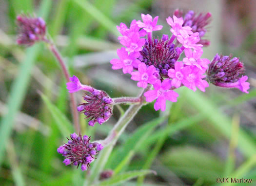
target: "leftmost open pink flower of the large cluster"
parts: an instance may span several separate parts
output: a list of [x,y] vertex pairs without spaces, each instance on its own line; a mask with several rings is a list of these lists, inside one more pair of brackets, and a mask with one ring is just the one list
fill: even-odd
[[117,50],[118,57],[120,59],[112,59],[110,63],[113,65],[112,69],[123,69],[123,73],[131,74],[133,72],[133,68],[138,68],[138,64],[140,61],[137,59],[140,54],[138,52],[132,52],[128,55],[128,52],[124,47]]

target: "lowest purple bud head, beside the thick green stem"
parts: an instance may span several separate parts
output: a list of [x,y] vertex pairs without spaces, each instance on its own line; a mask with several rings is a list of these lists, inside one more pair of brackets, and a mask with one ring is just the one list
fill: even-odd
[[91,137],[86,135],[79,136],[76,133],[70,135],[68,143],[60,146],[57,151],[62,154],[65,159],[63,163],[67,165],[74,165],[79,167],[81,165],[82,171],[90,167],[95,159],[95,155],[103,149],[103,146],[100,143],[91,143]]

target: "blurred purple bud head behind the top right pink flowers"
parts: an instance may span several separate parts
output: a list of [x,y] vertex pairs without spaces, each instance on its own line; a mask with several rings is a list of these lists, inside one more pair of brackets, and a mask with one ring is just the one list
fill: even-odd
[[192,32],[198,32],[200,41],[197,44],[202,44],[203,46],[210,45],[210,41],[207,39],[202,39],[202,37],[207,32],[206,26],[211,22],[212,14],[210,12],[203,14],[199,13],[198,15],[190,10],[186,14],[183,14],[181,10],[176,10],[174,15],[177,18],[183,17],[184,23],[182,26],[189,26],[192,28]]

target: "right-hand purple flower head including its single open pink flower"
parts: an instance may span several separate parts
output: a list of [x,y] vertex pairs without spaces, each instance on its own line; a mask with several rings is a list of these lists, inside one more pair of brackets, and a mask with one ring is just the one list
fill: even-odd
[[247,76],[241,76],[245,71],[243,62],[237,57],[216,55],[207,70],[207,79],[216,86],[237,88],[248,93]]

